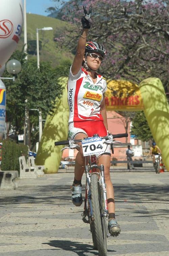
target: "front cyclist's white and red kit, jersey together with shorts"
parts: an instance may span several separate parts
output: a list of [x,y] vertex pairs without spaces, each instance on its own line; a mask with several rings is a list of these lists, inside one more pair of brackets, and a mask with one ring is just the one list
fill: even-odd
[[[78,133],[84,133],[89,137],[94,134],[106,136],[103,117],[100,113],[100,105],[103,101],[103,93],[107,89],[106,80],[97,74],[97,81],[93,81],[83,68],[73,75],[70,68],[68,80],[68,104],[69,104],[69,139],[74,139]],[[111,155],[110,145],[104,144],[104,153]]]

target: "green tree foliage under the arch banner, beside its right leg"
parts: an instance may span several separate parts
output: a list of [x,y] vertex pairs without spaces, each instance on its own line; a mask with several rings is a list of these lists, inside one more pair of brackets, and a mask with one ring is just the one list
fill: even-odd
[[143,111],[137,112],[132,120],[131,134],[136,135],[142,141],[153,138]]

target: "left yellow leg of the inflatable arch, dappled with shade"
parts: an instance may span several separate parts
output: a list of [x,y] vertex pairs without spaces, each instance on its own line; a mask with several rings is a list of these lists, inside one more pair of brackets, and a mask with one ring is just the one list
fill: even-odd
[[66,140],[68,137],[69,107],[67,100],[68,78],[60,78],[59,83],[64,87],[63,96],[54,107],[54,114],[46,118],[41,142],[38,148],[36,165],[44,165],[46,173],[58,171],[64,146],[54,146],[55,141]]

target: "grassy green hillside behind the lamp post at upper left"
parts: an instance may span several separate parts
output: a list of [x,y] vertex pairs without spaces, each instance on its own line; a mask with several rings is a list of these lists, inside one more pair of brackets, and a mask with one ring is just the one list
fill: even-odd
[[[53,40],[55,35],[59,35],[67,26],[67,22],[59,19],[36,14],[27,14],[27,42],[28,44],[33,43],[34,49],[36,49],[36,29],[44,27],[53,28],[51,31],[39,30],[39,41],[42,42],[42,48],[40,49],[40,61],[51,61],[52,66],[56,66],[62,60],[73,59],[73,55],[70,50],[64,48],[61,49],[59,43]],[[22,32],[17,50],[21,50],[23,45],[24,33]],[[37,59],[36,52],[28,54],[28,59],[30,58]]]

